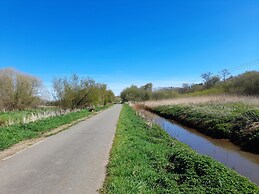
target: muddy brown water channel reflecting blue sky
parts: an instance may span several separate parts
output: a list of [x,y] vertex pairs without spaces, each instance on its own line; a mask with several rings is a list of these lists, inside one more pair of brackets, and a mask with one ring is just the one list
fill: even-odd
[[161,126],[169,135],[189,145],[200,154],[208,155],[259,185],[259,155],[240,150],[227,140],[213,139],[195,129],[182,126],[145,110],[147,120]]

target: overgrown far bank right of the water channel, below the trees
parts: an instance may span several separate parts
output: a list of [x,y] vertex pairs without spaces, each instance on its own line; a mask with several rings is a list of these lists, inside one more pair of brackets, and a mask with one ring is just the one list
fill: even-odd
[[259,153],[259,110],[244,103],[159,106],[152,111],[211,137],[230,139],[244,150]]

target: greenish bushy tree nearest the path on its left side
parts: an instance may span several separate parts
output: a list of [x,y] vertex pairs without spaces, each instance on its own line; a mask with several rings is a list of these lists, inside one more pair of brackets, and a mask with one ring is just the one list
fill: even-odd
[[57,104],[63,108],[102,106],[115,99],[113,92],[105,84],[80,78],[75,74],[54,79],[53,88]]

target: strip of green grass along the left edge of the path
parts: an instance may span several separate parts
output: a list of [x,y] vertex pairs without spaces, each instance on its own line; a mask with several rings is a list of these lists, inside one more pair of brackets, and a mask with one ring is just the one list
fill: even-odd
[[[98,108],[98,111],[107,107],[108,106]],[[9,148],[22,140],[40,137],[45,132],[69,124],[93,113],[94,112],[89,112],[88,110],[82,110],[56,117],[49,117],[31,123],[0,127],[0,151]]]

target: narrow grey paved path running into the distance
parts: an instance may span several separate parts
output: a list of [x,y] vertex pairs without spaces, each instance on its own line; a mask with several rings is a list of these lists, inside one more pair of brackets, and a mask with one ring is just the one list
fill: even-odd
[[120,110],[115,105],[0,161],[0,193],[96,193]]

